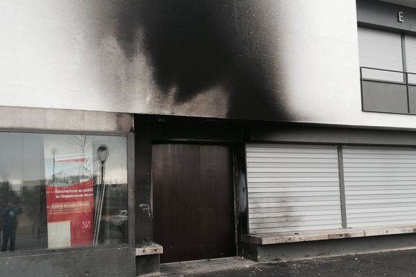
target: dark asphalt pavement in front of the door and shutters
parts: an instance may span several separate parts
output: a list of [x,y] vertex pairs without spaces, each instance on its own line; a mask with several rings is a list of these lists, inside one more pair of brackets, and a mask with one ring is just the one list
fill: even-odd
[[[162,269],[164,269],[162,267]],[[221,268],[212,264],[186,270],[177,267],[176,272],[165,272],[161,276],[168,277],[415,277],[416,276],[416,250],[389,251],[382,253],[369,253],[349,255],[333,258],[314,258],[309,260],[295,260],[289,262],[245,262],[239,265]]]

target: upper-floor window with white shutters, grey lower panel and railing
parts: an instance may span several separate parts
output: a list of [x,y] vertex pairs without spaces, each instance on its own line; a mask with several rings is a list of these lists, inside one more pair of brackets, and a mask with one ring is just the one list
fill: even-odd
[[364,111],[416,114],[416,37],[358,28]]

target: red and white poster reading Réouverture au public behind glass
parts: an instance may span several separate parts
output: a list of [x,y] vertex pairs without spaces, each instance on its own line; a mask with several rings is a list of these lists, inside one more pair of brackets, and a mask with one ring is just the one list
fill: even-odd
[[63,140],[48,136],[44,139],[44,154],[48,247],[92,244],[93,155],[89,137],[73,135]]

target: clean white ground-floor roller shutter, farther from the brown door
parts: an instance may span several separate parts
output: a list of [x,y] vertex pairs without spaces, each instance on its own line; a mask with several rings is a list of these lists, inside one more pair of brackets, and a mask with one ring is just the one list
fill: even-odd
[[343,148],[348,227],[416,223],[416,151]]

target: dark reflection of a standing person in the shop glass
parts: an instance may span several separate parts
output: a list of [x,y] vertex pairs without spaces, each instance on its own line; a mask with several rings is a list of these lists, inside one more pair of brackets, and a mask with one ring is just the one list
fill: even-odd
[[1,251],[7,250],[7,244],[10,240],[10,251],[15,251],[17,215],[21,214],[21,208],[17,202],[8,202],[6,208],[1,210],[2,227],[3,227],[3,244]]

